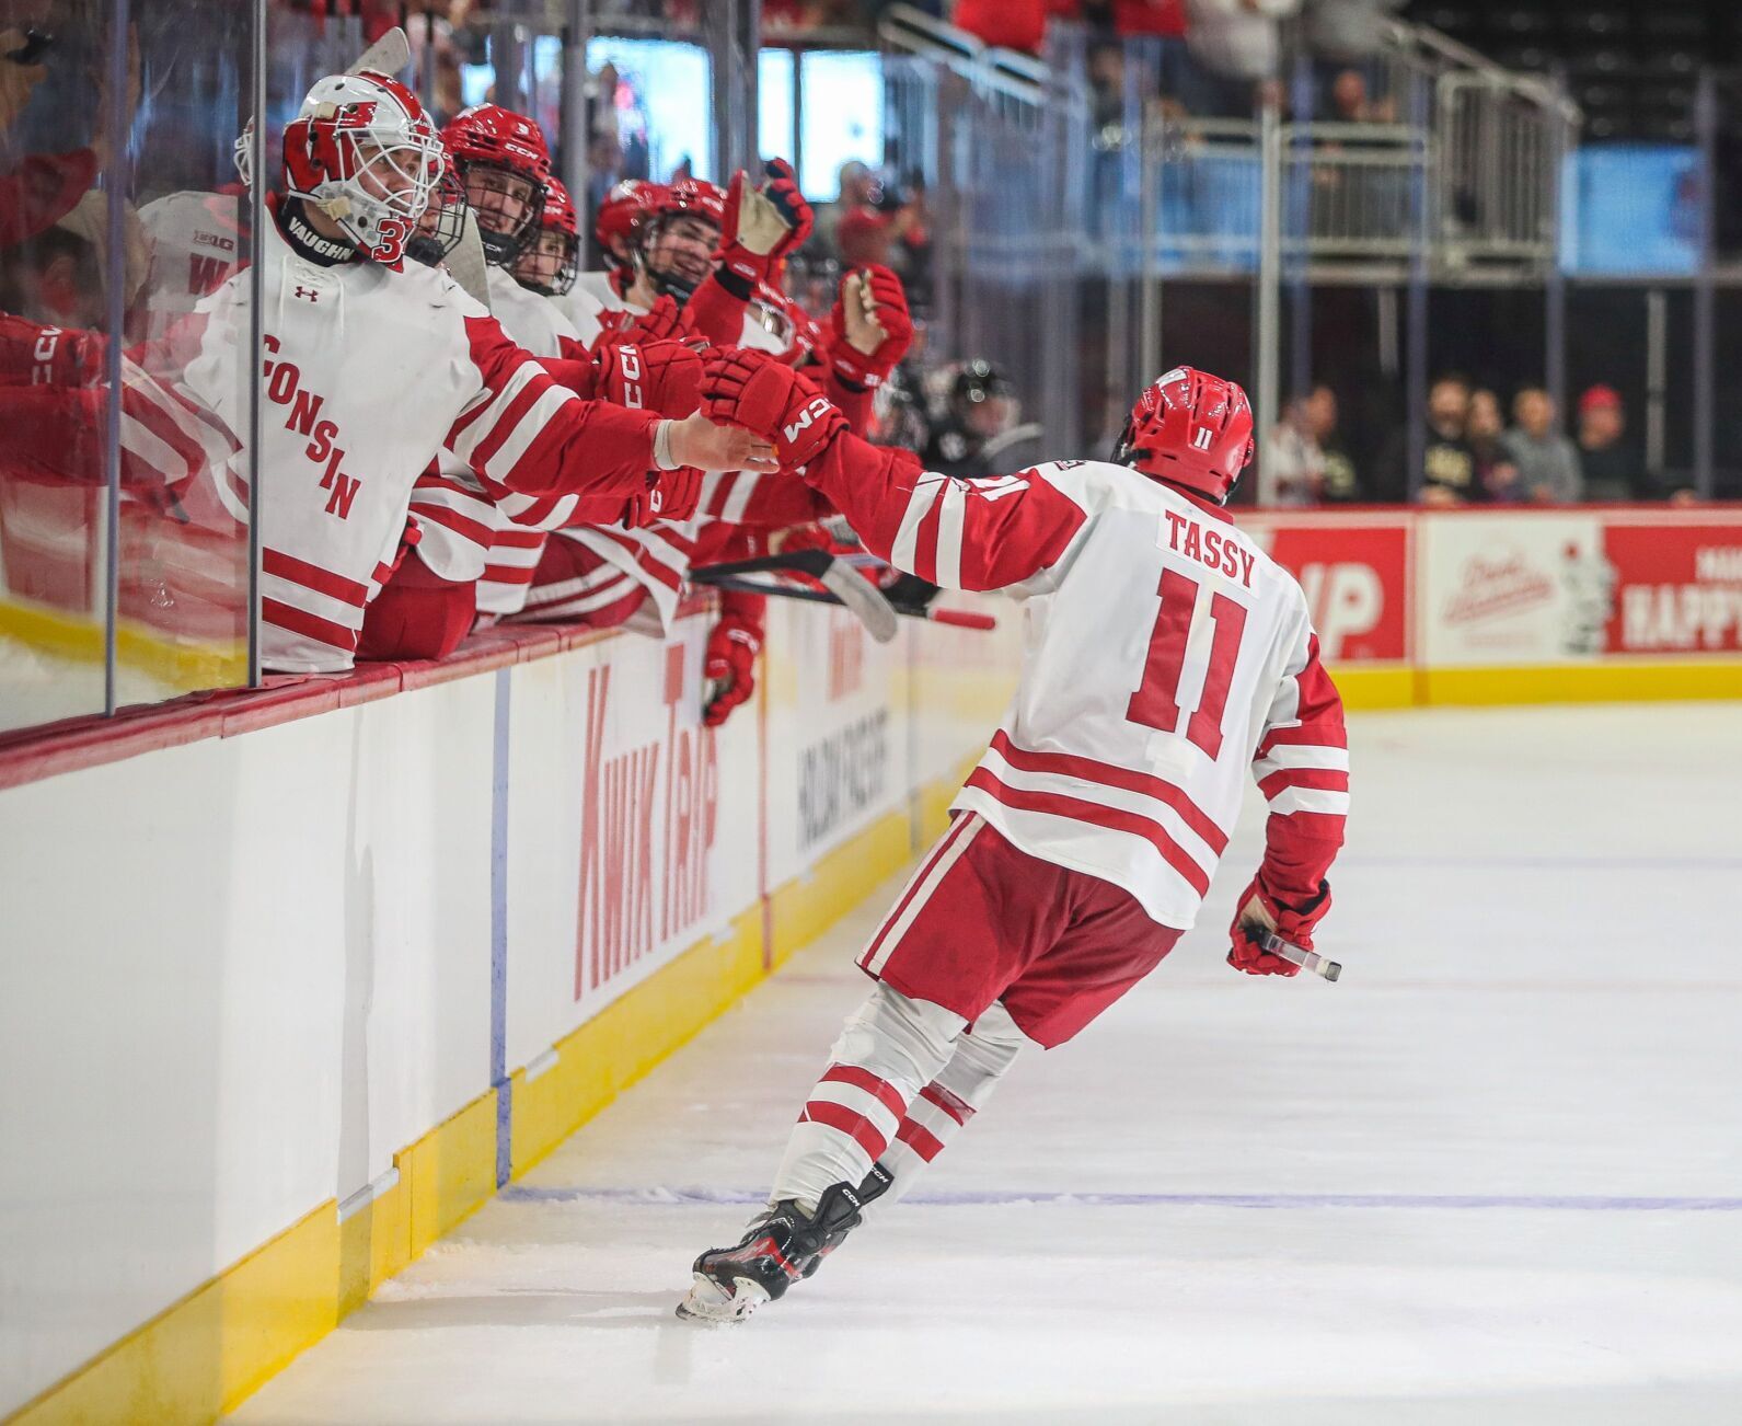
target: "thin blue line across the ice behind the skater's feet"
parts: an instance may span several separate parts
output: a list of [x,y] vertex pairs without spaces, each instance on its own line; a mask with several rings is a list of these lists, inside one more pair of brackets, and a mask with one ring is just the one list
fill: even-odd
[[[542,1189],[502,1191],[510,1203],[765,1203],[747,1189]],[[1118,1194],[1118,1192],[915,1192],[902,1203],[932,1208],[1070,1205],[1089,1208],[1549,1208],[1597,1213],[1742,1213],[1742,1198],[1603,1198],[1597,1194]]]

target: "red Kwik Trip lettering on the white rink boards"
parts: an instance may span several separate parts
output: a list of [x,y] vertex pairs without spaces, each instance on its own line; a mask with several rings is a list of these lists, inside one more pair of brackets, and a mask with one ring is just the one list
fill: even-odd
[[664,722],[625,751],[606,751],[611,673],[587,673],[577,1001],[702,922],[718,832],[714,734],[697,722],[685,645],[665,648]]

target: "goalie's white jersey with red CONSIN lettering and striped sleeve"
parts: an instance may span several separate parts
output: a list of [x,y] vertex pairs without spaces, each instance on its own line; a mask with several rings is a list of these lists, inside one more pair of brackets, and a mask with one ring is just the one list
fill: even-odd
[[[514,345],[446,274],[408,263],[322,267],[268,225],[261,411],[261,661],[350,666],[366,603],[388,575],[411,488],[446,443],[530,500],[646,488],[658,418],[584,403]],[[246,439],[251,277],[200,303],[186,387]],[[585,455],[582,457],[582,446]],[[216,479],[247,518],[246,452]]]

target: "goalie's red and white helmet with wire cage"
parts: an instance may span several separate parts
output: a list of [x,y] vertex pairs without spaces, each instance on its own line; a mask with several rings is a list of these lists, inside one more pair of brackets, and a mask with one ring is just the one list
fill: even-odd
[[390,75],[329,75],[284,126],[284,192],[378,263],[404,256],[446,167],[423,105]]

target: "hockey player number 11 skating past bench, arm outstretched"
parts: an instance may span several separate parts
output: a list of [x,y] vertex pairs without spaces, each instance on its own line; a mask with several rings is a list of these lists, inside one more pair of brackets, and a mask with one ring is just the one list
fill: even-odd
[[768,1208],[695,1260],[679,1316],[735,1321],[810,1276],[866,1203],[911,1189],[1026,1044],[1068,1041],[1172,950],[1247,771],[1270,819],[1228,959],[1294,974],[1256,936],[1312,948],[1348,753],[1300,586],[1221,507],[1252,450],[1240,387],[1169,371],[1138,399],[1118,464],[982,481],[866,445],[754,352],[712,357],[704,394],[897,568],[1028,605],[1014,713],[859,957],[878,983],[800,1112]]

